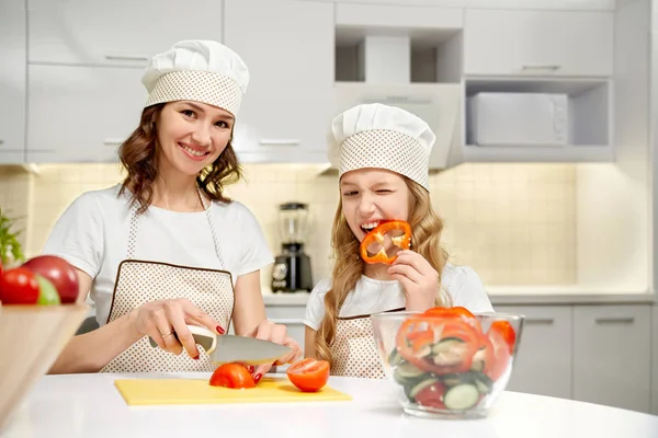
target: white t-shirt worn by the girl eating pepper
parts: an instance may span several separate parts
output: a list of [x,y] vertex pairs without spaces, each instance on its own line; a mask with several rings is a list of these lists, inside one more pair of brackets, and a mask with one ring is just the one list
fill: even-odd
[[[441,286],[450,293],[453,306],[472,312],[492,312],[485,287],[473,268],[445,264]],[[331,289],[331,279],[322,279],[308,297],[304,324],[318,330],[325,316],[325,295]],[[364,275],[340,309],[340,318],[368,315],[406,306],[405,292],[398,280],[375,280]]]

